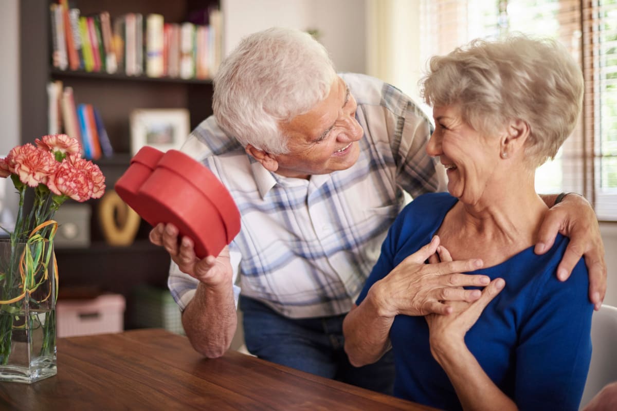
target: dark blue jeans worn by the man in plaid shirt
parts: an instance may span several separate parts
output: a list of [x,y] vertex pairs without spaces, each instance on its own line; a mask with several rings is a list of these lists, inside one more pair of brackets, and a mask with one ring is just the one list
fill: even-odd
[[354,367],[343,349],[345,315],[289,319],[259,301],[240,296],[244,341],[255,356],[351,385],[392,394],[392,350],[378,362]]

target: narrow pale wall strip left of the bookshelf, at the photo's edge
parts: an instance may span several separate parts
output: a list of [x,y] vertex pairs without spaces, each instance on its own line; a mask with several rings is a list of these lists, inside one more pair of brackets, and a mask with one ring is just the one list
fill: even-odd
[[[0,157],[19,144],[19,0],[2,0],[0,13]],[[15,216],[17,195],[7,179],[0,179],[0,211],[8,208]],[[6,211],[5,211],[6,212]],[[3,223],[0,214],[0,224]],[[4,226],[4,224],[2,224]]]

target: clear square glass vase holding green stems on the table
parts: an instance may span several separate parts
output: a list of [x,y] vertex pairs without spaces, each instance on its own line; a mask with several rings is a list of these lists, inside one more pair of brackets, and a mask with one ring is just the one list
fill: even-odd
[[52,243],[0,240],[0,381],[56,375],[56,288]]

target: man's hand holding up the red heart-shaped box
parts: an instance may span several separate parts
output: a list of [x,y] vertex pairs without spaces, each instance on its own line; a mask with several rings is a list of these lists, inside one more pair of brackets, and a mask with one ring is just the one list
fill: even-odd
[[173,224],[157,224],[150,232],[150,242],[167,250],[180,271],[191,275],[205,285],[218,286],[231,283],[229,248],[225,246],[218,257],[197,258],[191,238],[183,237],[178,245],[178,229]]

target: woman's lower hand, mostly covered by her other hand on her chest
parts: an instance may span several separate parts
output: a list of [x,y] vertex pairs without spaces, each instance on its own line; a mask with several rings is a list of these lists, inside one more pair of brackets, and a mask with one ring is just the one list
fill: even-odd
[[[442,262],[452,261],[449,251],[444,246],[437,248],[437,254]],[[437,257],[431,256],[429,262],[431,261],[436,262]],[[504,285],[503,279],[495,279],[481,291],[481,296],[476,301],[449,302],[447,305],[452,308],[449,315],[426,315],[431,352],[437,362],[442,364],[444,356],[453,356],[458,348],[464,346],[465,334],[476,324],[484,308],[503,290]]]

